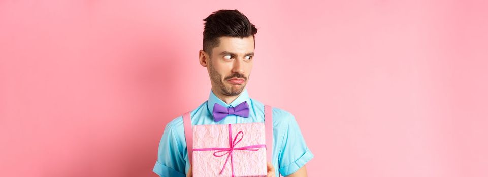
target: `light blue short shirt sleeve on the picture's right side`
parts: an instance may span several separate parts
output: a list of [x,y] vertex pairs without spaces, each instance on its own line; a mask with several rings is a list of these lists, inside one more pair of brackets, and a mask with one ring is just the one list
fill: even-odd
[[305,144],[305,139],[295,120],[295,116],[287,113],[283,120],[288,122],[288,125],[283,127],[284,135],[279,158],[279,173],[287,176],[303,167],[313,158],[313,154]]

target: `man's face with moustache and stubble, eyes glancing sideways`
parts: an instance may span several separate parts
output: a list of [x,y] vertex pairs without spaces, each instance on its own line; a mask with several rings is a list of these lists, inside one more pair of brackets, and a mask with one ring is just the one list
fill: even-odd
[[220,37],[212,49],[207,70],[212,87],[227,96],[239,95],[247,84],[254,56],[253,36]]

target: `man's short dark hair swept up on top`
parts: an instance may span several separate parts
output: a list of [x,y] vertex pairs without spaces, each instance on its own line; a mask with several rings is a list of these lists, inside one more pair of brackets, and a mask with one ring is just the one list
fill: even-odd
[[[205,21],[203,30],[203,50],[209,55],[212,49],[219,45],[219,37],[249,37],[257,33],[256,27],[249,21],[249,19],[235,10],[218,10],[210,14]],[[255,45],[255,40],[254,40]]]

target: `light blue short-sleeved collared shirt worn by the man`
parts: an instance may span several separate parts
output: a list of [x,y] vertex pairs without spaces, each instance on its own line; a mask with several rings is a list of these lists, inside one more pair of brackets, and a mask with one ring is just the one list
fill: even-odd
[[[244,101],[249,104],[248,118],[229,115],[219,122],[214,122],[212,111],[215,103],[228,108],[235,107]],[[264,104],[249,98],[247,89],[244,89],[231,104],[223,102],[210,91],[208,100],[197,109],[192,110],[190,115],[192,125],[264,122]],[[272,158],[276,176],[293,174],[313,158],[312,152],[305,144],[295,117],[291,113],[275,107],[273,107]],[[157,161],[153,171],[164,177],[184,177],[189,168],[183,116],[179,116],[166,125],[159,142]]]

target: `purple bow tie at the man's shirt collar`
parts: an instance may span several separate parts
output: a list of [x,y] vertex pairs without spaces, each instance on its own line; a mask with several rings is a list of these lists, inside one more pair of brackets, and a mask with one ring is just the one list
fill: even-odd
[[247,101],[242,102],[241,104],[237,105],[236,107],[226,108],[218,103],[213,105],[213,119],[215,122],[218,122],[225,118],[227,115],[238,115],[241,117],[249,117],[249,105]]

